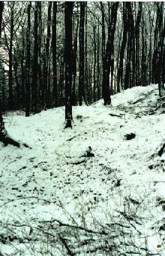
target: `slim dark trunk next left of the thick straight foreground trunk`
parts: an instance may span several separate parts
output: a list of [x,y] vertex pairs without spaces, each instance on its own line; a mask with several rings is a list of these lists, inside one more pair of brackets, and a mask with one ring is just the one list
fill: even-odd
[[57,2],[53,2],[52,4],[52,73],[53,73],[53,107],[57,107],[57,98],[58,98],[58,87],[57,87],[57,47],[56,47],[56,40],[57,40]]

